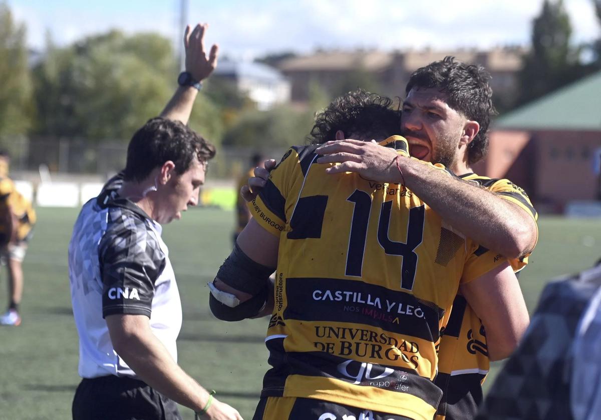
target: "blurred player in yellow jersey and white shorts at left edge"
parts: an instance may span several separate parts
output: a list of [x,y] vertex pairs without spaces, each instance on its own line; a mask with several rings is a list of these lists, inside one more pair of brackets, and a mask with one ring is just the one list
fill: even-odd
[[35,211],[8,177],[10,156],[0,151],[0,262],[7,266],[8,308],[0,325],[21,324],[19,304],[23,297],[23,258],[33,233]]

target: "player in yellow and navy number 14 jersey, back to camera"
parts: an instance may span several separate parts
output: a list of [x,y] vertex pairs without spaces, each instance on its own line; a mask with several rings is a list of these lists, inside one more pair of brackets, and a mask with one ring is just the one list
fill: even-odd
[[[486,326],[492,359],[507,357],[528,323],[507,260],[403,185],[409,146],[389,137],[398,131],[390,103],[350,92],[317,116],[313,144],[292,146],[271,170],[209,284],[220,319],[273,309],[272,369],[255,420],[432,419],[442,397],[436,346],[458,290]],[[381,173],[341,171],[316,154],[331,137],[376,139],[392,158]],[[441,164],[413,161],[453,178]]]

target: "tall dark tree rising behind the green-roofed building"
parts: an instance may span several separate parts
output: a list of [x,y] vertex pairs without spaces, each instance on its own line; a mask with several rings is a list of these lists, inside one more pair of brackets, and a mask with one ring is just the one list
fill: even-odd
[[572,25],[562,0],[545,0],[532,25],[532,48],[523,58],[518,103],[554,91],[582,76],[581,50],[570,46]]

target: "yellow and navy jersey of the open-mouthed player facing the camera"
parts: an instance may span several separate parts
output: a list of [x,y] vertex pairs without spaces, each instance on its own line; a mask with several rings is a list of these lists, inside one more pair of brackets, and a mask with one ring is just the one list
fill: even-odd
[[[460,178],[473,181],[498,194],[502,199],[520,206],[537,220],[537,212],[528,195],[508,179],[491,179],[475,173],[468,173]],[[519,260],[510,260],[514,271],[520,271],[528,264],[528,256],[529,254]],[[463,296],[457,296],[453,302],[450,320],[441,337],[438,358],[439,373],[435,383],[442,389],[444,396],[436,420],[474,418],[483,399],[481,383],[486,378],[490,363],[484,326]]]

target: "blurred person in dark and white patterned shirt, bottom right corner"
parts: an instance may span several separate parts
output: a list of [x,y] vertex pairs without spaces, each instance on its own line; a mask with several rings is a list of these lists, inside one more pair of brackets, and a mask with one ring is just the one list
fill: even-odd
[[601,264],[550,281],[481,420],[601,418]]

